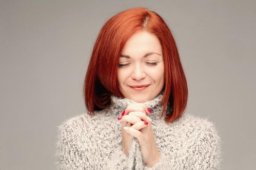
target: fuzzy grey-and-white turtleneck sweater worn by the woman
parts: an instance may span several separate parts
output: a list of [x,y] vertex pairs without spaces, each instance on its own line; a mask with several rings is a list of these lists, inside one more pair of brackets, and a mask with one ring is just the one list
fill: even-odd
[[152,111],[149,117],[161,154],[154,167],[143,163],[135,137],[129,155],[122,152],[117,118],[134,101],[113,95],[110,108],[69,118],[58,126],[58,170],[219,170],[221,140],[215,124],[191,114],[166,124],[160,119],[162,97],[161,92],[144,102]]

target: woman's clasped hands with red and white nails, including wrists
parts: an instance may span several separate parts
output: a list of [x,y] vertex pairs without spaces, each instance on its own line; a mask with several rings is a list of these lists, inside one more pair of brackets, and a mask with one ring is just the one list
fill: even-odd
[[[151,119],[148,116],[151,111],[143,103],[132,103],[123,112],[119,121],[122,122],[122,150],[127,155],[133,137],[138,139],[142,160],[147,167],[153,167],[160,158],[155,135],[152,129]],[[130,124],[128,124],[130,123]]]

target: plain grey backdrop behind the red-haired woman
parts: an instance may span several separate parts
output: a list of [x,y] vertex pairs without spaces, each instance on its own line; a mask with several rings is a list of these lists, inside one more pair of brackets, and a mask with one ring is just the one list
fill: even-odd
[[57,126],[84,113],[98,32],[132,7],[170,26],[188,81],[186,113],[216,123],[221,168],[256,168],[255,0],[0,0],[0,170],[56,169]]

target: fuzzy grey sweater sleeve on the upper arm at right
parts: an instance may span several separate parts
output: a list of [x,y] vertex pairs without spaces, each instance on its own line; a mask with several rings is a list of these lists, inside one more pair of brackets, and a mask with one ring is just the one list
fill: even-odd
[[221,140],[214,123],[206,121],[190,148],[189,170],[219,170]]

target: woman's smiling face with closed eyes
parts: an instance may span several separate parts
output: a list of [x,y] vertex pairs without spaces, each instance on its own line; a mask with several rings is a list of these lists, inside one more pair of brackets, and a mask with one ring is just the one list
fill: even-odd
[[[144,87],[136,87],[143,85]],[[164,86],[162,47],[156,35],[133,34],[125,43],[118,63],[118,88],[125,98],[145,102],[158,96]]]

